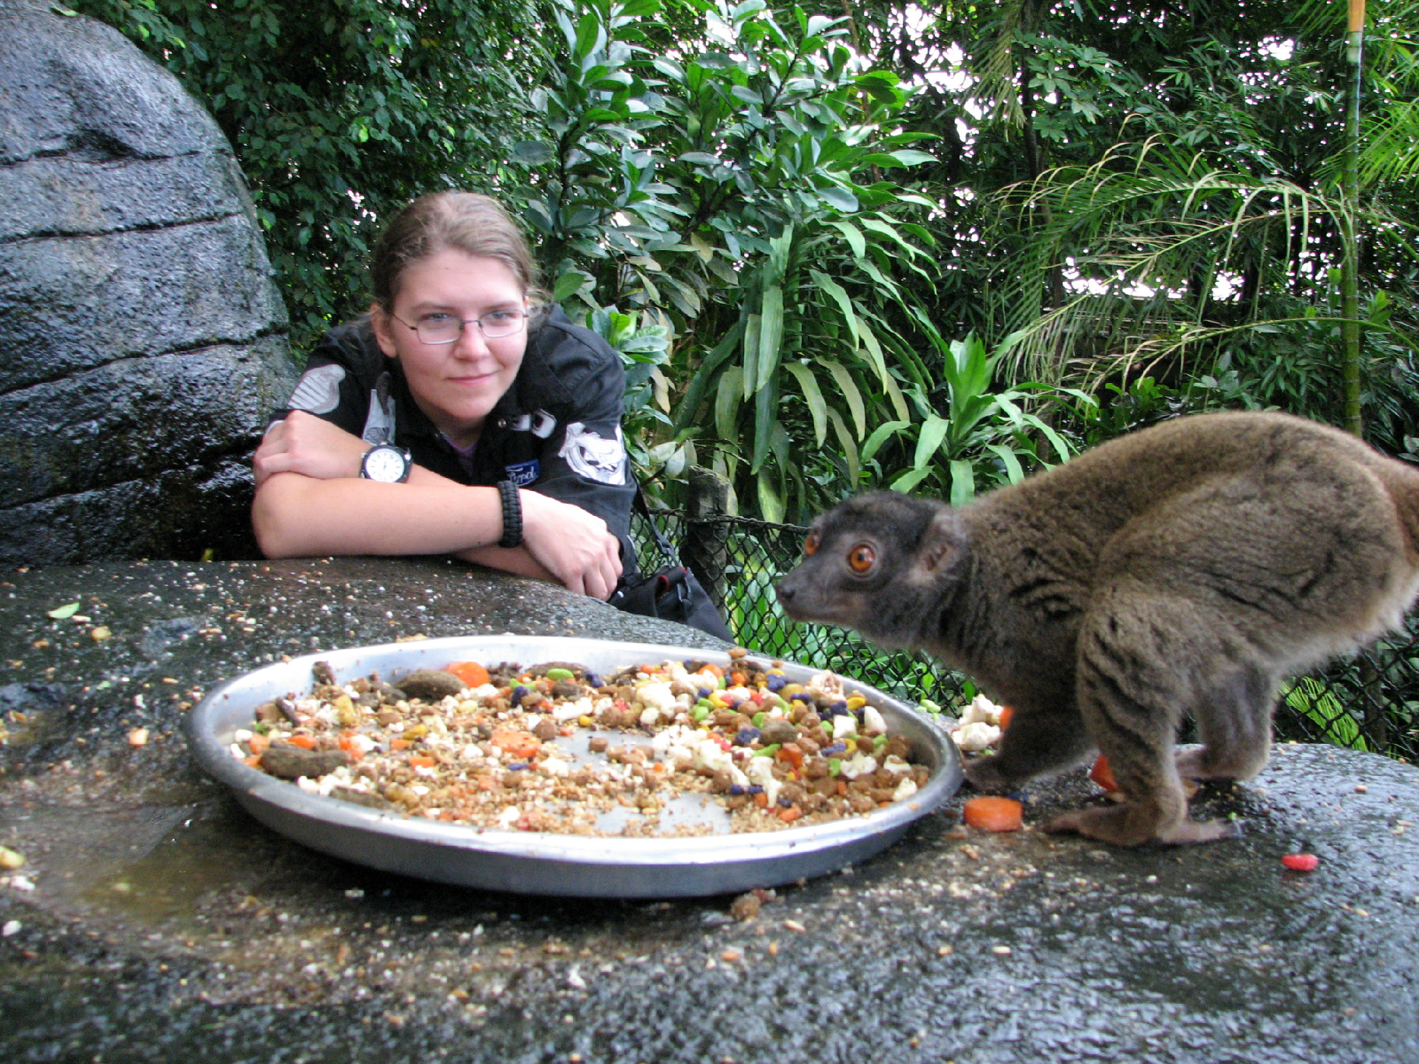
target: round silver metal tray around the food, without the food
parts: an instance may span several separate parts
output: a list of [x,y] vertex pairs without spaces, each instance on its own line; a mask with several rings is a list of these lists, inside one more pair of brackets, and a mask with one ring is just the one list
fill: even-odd
[[[316,661],[329,663],[336,678],[348,682],[375,670],[396,681],[412,670],[441,668],[450,661],[487,665],[576,661],[610,672],[667,658],[715,664],[729,660],[722,651],[541,636],[455,637],[333,650],[268,665],[213,689],[189,715],[187,739],[201,766],[231,787],[247,811],[312,850],[424,880],[563,897],[700,897],[823,875],[891,846],[914,820],[938,809],[961,786],[961,756],[941,728],[847,677],[844,688],[863,695],[893,732],[911,741],[915,758],[927,765],[931,777],[910,800],[866,817],[780,831],[622,838],[478,830],[309,794],[243,765],[230,750],[233,732],[251,724],[260,704],[311,689],[311,665]],[[820,670],[790,663],[783,671],[802,682]]]

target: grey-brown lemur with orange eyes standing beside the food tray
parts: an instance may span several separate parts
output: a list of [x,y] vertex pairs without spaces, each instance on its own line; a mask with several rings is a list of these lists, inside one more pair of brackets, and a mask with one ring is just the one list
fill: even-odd
[[[1188,819],[1179,775],[1256,775],[1280,682],[1419,590],[1419,471],[1286,414],[1178,419],[959,509],[877,492],[813,529],[785,611],[925,650],[1012,706],[978,787],[1103,750],[1128,800],[1050,827],[1121,844],[1226,834]],[[1175,759],[1185,714],[1202,748]]]

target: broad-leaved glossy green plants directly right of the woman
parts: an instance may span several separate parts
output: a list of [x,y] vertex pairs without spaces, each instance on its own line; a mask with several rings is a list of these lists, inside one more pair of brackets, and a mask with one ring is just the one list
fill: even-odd
[[535,167],[528,218],[555,295],[643,309],[675,335],[654,377],[668,423],[641,423],[643,453],[670,477],[710,464],[766,519],[799,518],[895,478],[881,458],[929,440],[956,396],[985,406],[918,445],[911,485],[969,494],[985,460],[1019,478],[1029,437],[1051,430],[1019,392],[951,383],[955,349],[925,301],[932,200],[890,180],[935,157],[894,131],[895,75],[854,55],[843,18],[694,7],[704,35],[671,58],[647,44],[658,0],[561,6],[563,51],[532,96],[546,136],[512,156]]

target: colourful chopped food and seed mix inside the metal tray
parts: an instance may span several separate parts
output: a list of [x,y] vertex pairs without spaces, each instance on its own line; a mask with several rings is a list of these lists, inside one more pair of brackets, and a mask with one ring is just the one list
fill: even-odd
[[775,831],[910,799],[928,769],[839,677],[727,667],[457,661],[257,708],[231,755],[302,790],[475,829],[580,836]]

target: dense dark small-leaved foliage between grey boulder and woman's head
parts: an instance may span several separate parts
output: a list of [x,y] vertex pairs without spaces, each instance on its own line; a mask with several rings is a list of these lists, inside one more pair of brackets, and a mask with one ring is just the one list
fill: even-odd
[[[505,54],[521,0],[75,0],[172,70],[245,172],[308,340],[368,305],[382,220],[444,187],[488,190],[528,68]],[[514,91],[509,92],[509,85]]]

